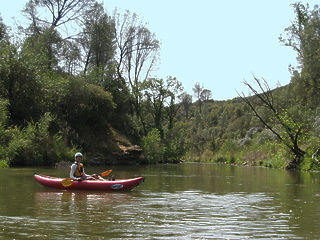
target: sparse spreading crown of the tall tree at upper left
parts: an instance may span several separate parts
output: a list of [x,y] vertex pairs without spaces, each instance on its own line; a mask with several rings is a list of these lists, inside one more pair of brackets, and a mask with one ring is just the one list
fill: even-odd
[[[68,45],[63,43],[73,38],[69,32],[72,24],[80,24],[80,17],[94,2],[95,0],[29,0],[25,5],[23,13],[30,21],[26,31],[29,47],[35,53],[46,56],[47,69],[57,69],[57,59],[61,60],[62,54],[69,56],[68,49],[65,48]],[[41,16],[38,14],[39,10]],[[75,48],[71,49],[73,52],[74,50]]]

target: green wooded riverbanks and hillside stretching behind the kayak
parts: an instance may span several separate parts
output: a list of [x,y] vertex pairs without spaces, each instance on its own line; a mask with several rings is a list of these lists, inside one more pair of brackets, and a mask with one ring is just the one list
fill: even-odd
[[320,9],[293,3],[279,42],[291,81],[215,101],[153,78],[161,43],[139,16],[95,0],[30,0],[27,27],[0,19],[0,167],[183,161],[319,170]]

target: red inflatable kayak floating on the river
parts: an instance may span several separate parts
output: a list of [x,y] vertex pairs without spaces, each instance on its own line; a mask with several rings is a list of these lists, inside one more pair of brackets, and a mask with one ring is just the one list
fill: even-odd
[[116,180],[82,180],[72,181],[69,186],[63,186],[65,178],[57,178],[46,175],[34,174],[35,180],[45,187],[58,189],[72,189],[72,190],[95,190],[95,191],[119,191],[130,190],[137,187],[144,181],[144,177],[137,177],[131,179],[116,179]]

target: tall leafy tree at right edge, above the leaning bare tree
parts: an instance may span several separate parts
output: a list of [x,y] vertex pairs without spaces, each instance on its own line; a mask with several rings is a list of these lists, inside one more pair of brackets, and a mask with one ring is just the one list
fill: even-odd
[[311,104],[318,105],[320,101],[320,9],[315,6],[313,10],[309,5],[298,2],[292,4],[296,17],[291,26],[285,29],[287,37],[279,39],[285,46],[297,52],[300,63],[301,77],[299,85],[300,96]]

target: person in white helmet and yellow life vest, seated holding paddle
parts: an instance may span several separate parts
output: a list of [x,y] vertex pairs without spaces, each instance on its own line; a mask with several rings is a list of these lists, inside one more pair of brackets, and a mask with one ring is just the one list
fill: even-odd
[[100,179],[101,180],[101,177],[97,174],[93,174],[91,176],[91,175],[87,175],[84,172],[84,167],[82,164],[82,157],[83,157],[83,155],[80,152],[77,152],[74,155],[75,162],[71,165],[71,168],[70,168],[70,178],[73,180],[76,180],[76,181],[81,181],[83,179],[86,179],[86,180]]

